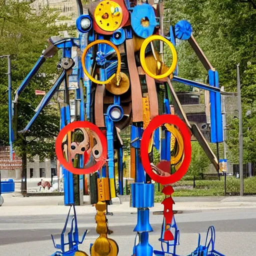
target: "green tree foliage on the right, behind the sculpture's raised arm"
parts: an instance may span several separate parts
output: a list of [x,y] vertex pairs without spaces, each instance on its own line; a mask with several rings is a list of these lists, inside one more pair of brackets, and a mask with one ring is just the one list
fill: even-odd
[[[243,109],[244,162],[255,162],[256,99],[256,11],[250,3],[239,0],[172,0],[165,1],[166,19],[174,25],[187,19],[193,37],[219,73],[219,84],[226,91],[236,91],[236,64],[240,63]],[[179,76],[207,78],[207,71],[186,41],[177,41]],[[184,91],[184,88],[175,88]],[[251,111],[246,116],[247,110]],[[238,114],[237,114],[238,116]],[[238,161],[238,120],[227,120],[228,159]]]

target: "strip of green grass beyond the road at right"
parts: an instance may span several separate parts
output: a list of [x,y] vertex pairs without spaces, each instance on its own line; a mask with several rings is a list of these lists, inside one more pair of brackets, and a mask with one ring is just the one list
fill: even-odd
[[[180,180],[173,184],[173,196],[220,196],[224,195],[224,177],[220,180],[196,180],[193,188],[193,180]],[[226,177],[226,192],[238,193],[240,191],[240,179],[233,176]],[[244,179],[244,193],[256,193],[256,177]],[[164,195],[158,191],[155,185],[155,202],[161,202]]]

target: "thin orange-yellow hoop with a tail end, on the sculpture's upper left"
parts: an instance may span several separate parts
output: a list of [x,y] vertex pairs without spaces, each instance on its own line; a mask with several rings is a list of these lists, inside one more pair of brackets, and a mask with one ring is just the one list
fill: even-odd
[[[116,55],[117,55],[117,70],[116,70],[116,73],[115,74],[112,74],[107,80],[105,81],[98,81],[96,80],[95,78],[93,78],[87,71],[86,67],[85,67],[85,56],[89,50],[90,47],[94,46],[95,44],[98,44],[98,43],[105,43],[105,44],[108,44],[109,46],[111,46],[115,52],[116,52]],[[93,41],[91,43],[89,43],[86,48],[84,49],[83,53],[82,53],[82,58],[81,58],[81,61],[82,61],[82,69],[83,69],[83,72],[88,76],[88,78],[93,81],[94,83],[97,83],[97,84],[106,84],[108,82],[110,82],[114,76],[116,75],[116,78],[120,78],[120,69],[121,69],[121,56],[120,56],[120,52],[119,50],[117,49],[117,47],[111,43],[110,41],[107,41],[107,40],[96,40],[96,41]],[[116,79],[118,81],[118,79]]]

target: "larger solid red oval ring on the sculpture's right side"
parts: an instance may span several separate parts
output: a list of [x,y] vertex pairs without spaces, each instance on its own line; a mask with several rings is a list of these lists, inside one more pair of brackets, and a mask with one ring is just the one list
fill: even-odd
[[[153,131],[164,123],[174,124],[180,131],[184,141],[184,159],[180,167],[170,176],[163,177],[153,172],[148,158],[148,146]],[[156,182],[161,184],[170,184],[180,180],[187,172],[191,161],[191,133],[186,124],[174,114],[162,114],[155,116],[143,131],[140,141],[141,162],[146,173]]]

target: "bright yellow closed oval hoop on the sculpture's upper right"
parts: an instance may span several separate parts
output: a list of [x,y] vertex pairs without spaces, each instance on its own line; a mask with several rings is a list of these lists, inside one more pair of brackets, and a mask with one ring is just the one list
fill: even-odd
[[[160,40],[160,41],[165,42],[170,47],[170,50],[171,50],[171,53],[172,53],[172,63],[171,63],[170,68],[165,73],[158,74],[158,75],[155,75],[155,74],[151,73],[149,71],[149,69],[147,68],[147,65],[146,65],[146,62],[145,62],[145,50],[146,50],[146,47],[147,47],[149,42],[154,41],[154,40]],[[154,79],[162,79],[162,78],[165,78],[167,76],[170,76],[170,74],[175,70],[175,67],[176,67],[176,64],[177,64],[177,52],[176,52],[176,49],[173,46],[173,44],[169,40],[167,40],[165,37],[163,37],[161,35],[156,35],[156,34],[147,37],[142,42],[141,48],[140,48],[140,56],[139,56],[139,58],[140,58],[141,66],[144,69],[145,73],[148,74],[149,76],[151,76]]]

